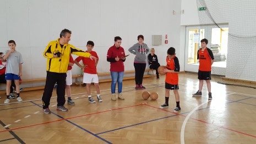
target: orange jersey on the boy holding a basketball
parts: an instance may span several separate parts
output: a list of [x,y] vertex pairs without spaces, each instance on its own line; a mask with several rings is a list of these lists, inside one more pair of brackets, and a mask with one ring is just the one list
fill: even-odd
[[[179,60],[176,56],[172,59],[166,57],[166,68],[174,71],[179,71]],[[178,85],[178,73],[166,73],[165,82],[171,85]]]

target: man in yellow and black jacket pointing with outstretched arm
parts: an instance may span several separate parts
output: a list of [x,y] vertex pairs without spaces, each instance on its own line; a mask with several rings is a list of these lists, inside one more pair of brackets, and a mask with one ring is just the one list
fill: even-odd
[[90,58],[91,60],[96,60],[94,56],[90,53],[82,51],[70,45],[71,31],[64,29],[61,31],[60,38],[56,41],[51,41],[48,43],[45,51],[43,52],[43,57],[47,58],[46,63],[46,83],[45,90],[42,95],[43,111],[46,114],[50,114],[51,110],[48,108],[50,105],[50,99],[52,97],[52,90],[57,82],[57,109],[62,111],[67,111],[68,109],[64,107],[66,102],[65,99],[65,87],[66,87],[66,76],[67,68],[69,63],[70,54],[76,54],[77,56]]

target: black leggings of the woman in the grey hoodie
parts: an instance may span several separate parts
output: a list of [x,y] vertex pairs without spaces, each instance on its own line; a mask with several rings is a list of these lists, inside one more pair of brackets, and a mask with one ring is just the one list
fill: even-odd
[[133,65],[135,69],[135,84],[140,85],[143,82],[146,63],[133,63]]

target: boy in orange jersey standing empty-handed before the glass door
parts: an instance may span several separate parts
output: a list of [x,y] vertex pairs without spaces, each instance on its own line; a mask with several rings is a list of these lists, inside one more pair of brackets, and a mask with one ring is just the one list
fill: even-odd
[[208,99],[211,97],[211,65],[214,63],[214,56],[211,49],[207,48],[208,40],[204,38],[201,40],[201,48],[197,52],[197,59],[199,59],[198,79],[199,79],[199,90],[193,94],[193,96],[201,96],[204,80],[206,81],[208,89]]

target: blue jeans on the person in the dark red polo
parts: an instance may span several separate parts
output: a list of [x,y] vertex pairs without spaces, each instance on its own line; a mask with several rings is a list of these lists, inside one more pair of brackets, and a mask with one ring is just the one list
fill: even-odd
[[111,93],[116,93],[116,84],[118,83],[118,93],[122,92],[123,87],[123,75],[124,71],[116,72],[110,71],[112,82],[111,82]]

